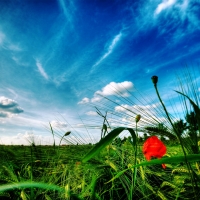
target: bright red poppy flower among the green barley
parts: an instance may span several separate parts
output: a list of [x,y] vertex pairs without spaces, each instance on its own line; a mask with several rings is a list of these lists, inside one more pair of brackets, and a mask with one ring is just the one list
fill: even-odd
[[[145,141],[142,151],[149,161],[151,157],[162,158],[166,154],[167,148],[157,136],[151,136]],[[162,164],[162,167],[165,169],[165,164]]]

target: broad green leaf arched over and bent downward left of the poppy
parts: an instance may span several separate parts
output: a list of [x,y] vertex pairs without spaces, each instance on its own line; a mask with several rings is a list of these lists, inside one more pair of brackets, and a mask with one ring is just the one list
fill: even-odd
[[136,143],[136,135],[135,131],[132,128],[126,128],[126,127],[118,127],[114,130],[112,130],[108,135],[106,135],[103,139],[101,139],[96,146],[85,155],[85,157],[82,159],[82,162],[87,162],[92,157],[94,157],[96,154],[98,154],[103,148],[105,148],[108,144],[110,144],[115,137],[117,137],[122,131],[128,130],[133,138],[133,145]]

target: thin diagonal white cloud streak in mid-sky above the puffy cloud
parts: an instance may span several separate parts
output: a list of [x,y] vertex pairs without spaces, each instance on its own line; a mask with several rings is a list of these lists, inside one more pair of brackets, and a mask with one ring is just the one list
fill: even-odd
[[114,50],[114,48],[116,47],[117,43],[120,41],[122,37],[122,33],[119,33],[118,35],[116,35],[111,44],[109,45],[106,53],[92,66],[92,69],[91,69],[91,73],[95,70],[95,68],[101,63],[103,62],[103,60],[105,60]]

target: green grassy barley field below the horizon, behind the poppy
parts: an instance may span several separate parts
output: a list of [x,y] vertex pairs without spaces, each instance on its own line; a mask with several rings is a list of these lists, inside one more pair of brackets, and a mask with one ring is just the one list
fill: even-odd
[[[140,166],[134,179],[134,151],[126,141],[108,145],[81,162],[93,145],[0,146],[1,198],[3,199],[187,199],[193,198],[192,184],[184,162]],[[182,156],[178,145],[168,144],[166,158]],[[156,159],[157,160],[157,159]],[[137,163],[145,162],[142,143]],[[152,160],[154,161],[154,160]],[[199,171],[193,162],[199,177]],[[128,169],[119,175],[124,169]],[[21,185],[20,185],[21,184]],[[7,187],[5,187],[7,186]],[[199,187],[199,181],[198,181]],[[191,197],[192,195],[192,197]]]

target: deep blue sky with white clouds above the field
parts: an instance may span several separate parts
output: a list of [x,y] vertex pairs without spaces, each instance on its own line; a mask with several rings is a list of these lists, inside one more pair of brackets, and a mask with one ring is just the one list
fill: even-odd
[[[94,106],[158,107],[153,75],[176,102],[175,74],[199,67],[199,9],[191,0],[0,1],[0,142],[51,143],[49,122],[57,135],[72,131],[70,141],[98,140]],[[122,100],[138,91],[145,101]]]

